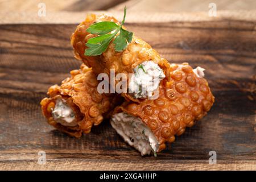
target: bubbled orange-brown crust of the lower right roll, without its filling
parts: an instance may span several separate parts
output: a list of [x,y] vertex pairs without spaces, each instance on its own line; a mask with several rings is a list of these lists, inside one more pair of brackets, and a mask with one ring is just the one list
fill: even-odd
[[170,70],[168,80],[159,86],[156,100],[144,100],[140,104],[124,102],[114,111],[140,117],[158,138],[158,151],[166,148],[166,142],[174,142],[175,135],[183,134],[186,127],[193,126],[196,120],[207,114],[214,102],[207,80],[197,77],[187,63],[171,64]]

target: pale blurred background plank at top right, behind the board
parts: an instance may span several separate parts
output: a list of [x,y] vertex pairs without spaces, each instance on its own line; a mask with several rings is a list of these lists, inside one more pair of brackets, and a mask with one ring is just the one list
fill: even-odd
[[209,11],[209,4],[215,3],[217,11],[219,10],[255,10],[256,2],[254,0],[130,0],[120,3],[112,7],[111,10],[122,11],[126,6],[129,11],[138,12],[168,12],[168,13],[183,13],[183,12],[198,12]]

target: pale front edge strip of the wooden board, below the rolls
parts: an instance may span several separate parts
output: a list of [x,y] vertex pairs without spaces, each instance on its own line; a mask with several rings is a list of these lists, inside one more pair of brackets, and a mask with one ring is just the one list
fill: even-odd
[[11,160],[0,162],[1,170],[161,170],[161,171],[192,171],[192,170],[255,170],[255,161],[226,162],[209,164],[202,160],[129,160],[128,162],[111,160],[58,159],[46,160],[46,164],[38,164],[38,160]]

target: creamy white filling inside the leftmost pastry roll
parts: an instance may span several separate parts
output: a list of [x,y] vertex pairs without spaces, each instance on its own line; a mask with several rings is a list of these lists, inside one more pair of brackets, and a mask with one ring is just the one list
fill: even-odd
[[75,113],[63,100],[58,98],[54,109],[52,110],[52,116],[56,122],[61,123],[64,126],[76,126]]

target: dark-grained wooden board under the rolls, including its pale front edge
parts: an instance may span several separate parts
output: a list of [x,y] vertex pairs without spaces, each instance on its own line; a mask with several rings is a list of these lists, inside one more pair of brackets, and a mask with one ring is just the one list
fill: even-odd
[[[255,20],[127,23],[172,63],[206,68],[216,97],[209,114],[167,150],[141,157],[108,121],[80,139],[48,126],[39,102],[78,68],[76,24],[0,25],[0,169],[256,169]],[[147,32],[147,34],[145,34]],[[217,164],[209,165],[209,151]],[[46,164],[38,164],[38,152]]]

